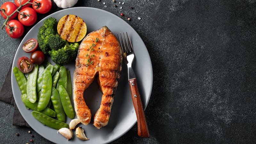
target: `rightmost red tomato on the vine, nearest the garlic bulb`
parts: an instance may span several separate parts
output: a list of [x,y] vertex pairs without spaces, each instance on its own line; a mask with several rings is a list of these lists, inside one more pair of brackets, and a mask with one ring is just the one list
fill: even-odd
[[36,12],[41,14],[45,14],[49,12],[52,8],[51,0],[33,0],[32,3],[35,3],[35,4],[32,4],[33,9],[36,10]]

